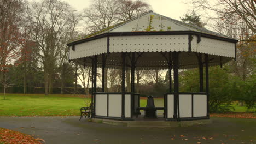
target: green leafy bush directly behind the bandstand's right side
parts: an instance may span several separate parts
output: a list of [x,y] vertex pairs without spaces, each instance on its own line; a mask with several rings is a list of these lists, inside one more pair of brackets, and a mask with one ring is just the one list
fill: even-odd
[[[210,112],[222,113],[233,109],[230,75],[227,71],[228,69],[220,67],[210,67],[209,69]],[[199,69],[182,71],[179,80],[181,92],[199,92]],[[203,77],[203,80],[205,88],[205,77]]]

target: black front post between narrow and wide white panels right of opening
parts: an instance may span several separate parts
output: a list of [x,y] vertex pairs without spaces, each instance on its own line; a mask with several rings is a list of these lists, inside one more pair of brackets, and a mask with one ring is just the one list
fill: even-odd
[[[173,77],[174,77],[174,114],[173,118],[179,117],[179,52],[173,52]],[[178,110],[177,110],[178,107]]]

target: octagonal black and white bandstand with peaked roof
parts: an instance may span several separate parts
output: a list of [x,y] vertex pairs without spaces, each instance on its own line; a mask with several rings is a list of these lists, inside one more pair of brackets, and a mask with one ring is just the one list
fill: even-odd
[[[209,119],[208,67],[236,58],[236,43],[225,35],[149,11],[67,45],[70,61],[92,67],[92,118],[136,121],[135,70],[168,69],[162,119],[188,121]],[[101,91],[97,91],[97,68],[102,70]],[[105,68],[122,70],[121,92],[104,91]],[[199,68],[200,92],[179,91],[179,69],[189,68]],[[126,69],[131,70],[131,92],[125,88]]]

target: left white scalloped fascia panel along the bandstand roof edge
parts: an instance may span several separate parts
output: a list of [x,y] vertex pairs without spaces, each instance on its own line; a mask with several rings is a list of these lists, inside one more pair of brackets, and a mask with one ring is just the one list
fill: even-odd
[[93,55],[99,55],[101,53],[107,53],[107,37],[87,41],[82,44],[75,45],[75,51],[72,50],[72,46],[70,49],[70,59],[89,57]]

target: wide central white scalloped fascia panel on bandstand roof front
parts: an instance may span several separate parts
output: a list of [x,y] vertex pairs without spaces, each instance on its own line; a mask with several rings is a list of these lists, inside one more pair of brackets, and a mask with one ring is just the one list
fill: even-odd
[[188,35],[110,37],[110,52],[188,51]]

